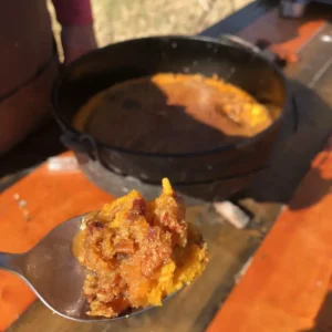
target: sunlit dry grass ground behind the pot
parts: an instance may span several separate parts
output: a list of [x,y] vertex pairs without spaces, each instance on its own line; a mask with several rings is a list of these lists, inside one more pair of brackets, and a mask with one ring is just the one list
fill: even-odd
[[[145,35],[195,34],[251,1],[92,0],[92,6],[97,42],[104,46]],[[60,28],[54,24],[54,30]]]

